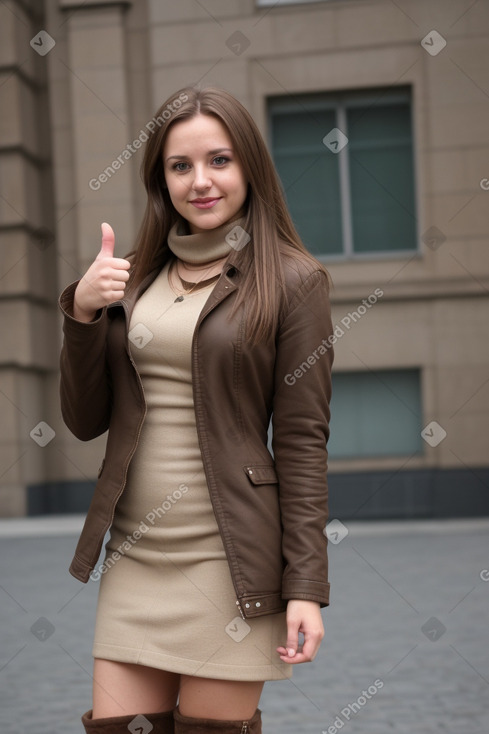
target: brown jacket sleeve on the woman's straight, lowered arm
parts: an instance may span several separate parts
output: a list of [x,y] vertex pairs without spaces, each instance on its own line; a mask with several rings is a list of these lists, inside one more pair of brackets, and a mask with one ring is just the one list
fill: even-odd
[[284,599],[329,604],[327,441],[333,326],[326,274],[314,271],[289,304],[275,364],[272,449],[279,481]]

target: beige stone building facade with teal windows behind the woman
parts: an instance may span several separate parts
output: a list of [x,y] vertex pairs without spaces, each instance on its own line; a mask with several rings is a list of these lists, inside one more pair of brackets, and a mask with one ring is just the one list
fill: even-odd
[[57,298],[102,221],[132,248],[142,133],[195,83],[249,109],[333,279],[332,517],[488,514],[488,36],[458,0],[2,3],[0,515],[88,506]]

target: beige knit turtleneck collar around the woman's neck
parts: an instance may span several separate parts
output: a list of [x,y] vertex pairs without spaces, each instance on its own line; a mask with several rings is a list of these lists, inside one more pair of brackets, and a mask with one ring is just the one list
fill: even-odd
[[197,234],[188,234],[186,220],[179,219],[168,233],[168,247],[176,257],[192,265],[218,260],[235,249],[226,240],[226,235],[236,226],[244,228],[245,219],[245,216],[240,216],[232,222]]

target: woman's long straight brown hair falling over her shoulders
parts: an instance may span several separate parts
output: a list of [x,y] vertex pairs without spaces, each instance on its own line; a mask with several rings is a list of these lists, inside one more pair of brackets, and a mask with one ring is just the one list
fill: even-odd
[[[169,257],[168,233],[179,219],[165,185],[163,148],[172,125],[198,114],[219,119],[232,140],[233,149],[248,181],[244,229],[251,242],[239,251],[244,273],[230,316],[243,304],[245,332],[252,343],[273,338],[278,325],[277,301],[285,295],[282,259],[299,256],[311,269],[326,268],[304,247],[290,217],[272,158],[253,118],[229,92],[217,87],[185,87],[173,94],[153,118],[155,130],[146,143],[141,165],[148,200],[131,257],[128,289],[136,287],[154,268]],[[280,241],[290,248],[284,253]],[[291,249],[292,248],[292,249]],[[280,301],[279,301],[280,302]]]

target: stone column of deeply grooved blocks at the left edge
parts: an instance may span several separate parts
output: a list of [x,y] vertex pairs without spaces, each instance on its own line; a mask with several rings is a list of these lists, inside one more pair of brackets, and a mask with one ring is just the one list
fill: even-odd
[[0,6],[0,515],[44,479],[56,256],[43,3]]

